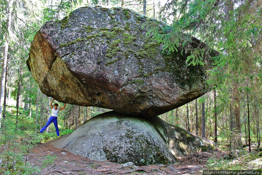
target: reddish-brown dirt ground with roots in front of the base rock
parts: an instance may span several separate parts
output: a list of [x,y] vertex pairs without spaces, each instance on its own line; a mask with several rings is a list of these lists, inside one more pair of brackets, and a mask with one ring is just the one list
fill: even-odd
[[[98,162],[83,156],[74,155],[67,150],[55,148],[50,143],[38,144],[32,149],[32,154],[27,161],[32,166],[38,165],[41,168],[41,175],[46,174],[73,174],[73,175],[116,175],[116,174],[141,174],[141,175],[165,175],[165,174],[202,174],[200,170],[205,167],[211,156],[223,156],[218,150],[202,153],[193,153],[180,157],[180,164],[174,165],[149,165],[143,167],[123,167],[122,164],[108,161]],[[214,153],[215,152],[215,153]],[[55,156],[52,163],[48,160]],[[48,158],[49,157],[49,158]],[[50,158],[51,157],[51,158]],[[50,162],[50,161],[49,161]],[[44,167],[43,164],[46,164]]]

